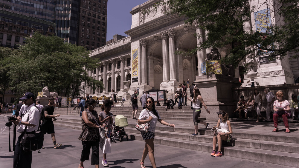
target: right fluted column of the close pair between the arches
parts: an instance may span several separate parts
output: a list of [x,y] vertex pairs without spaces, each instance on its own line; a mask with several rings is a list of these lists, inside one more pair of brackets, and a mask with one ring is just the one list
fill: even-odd
[[169,63],[170,63],[170,81],[176,81],[176,57],[175,53],[175,42],[174,36],[176,35],[176,30],[170,29],[168,31],[169,36]]

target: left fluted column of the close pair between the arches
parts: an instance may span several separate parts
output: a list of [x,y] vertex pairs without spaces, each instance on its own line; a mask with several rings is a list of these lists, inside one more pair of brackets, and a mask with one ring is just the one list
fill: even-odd
[[162,39],[162,55],[163,55],[163,82],[169,81],[169,56],[167,47],[168,31],[160,33]]

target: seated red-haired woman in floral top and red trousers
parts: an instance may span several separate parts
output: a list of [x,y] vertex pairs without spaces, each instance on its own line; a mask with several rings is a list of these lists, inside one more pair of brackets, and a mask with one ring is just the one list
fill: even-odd
[[278,116],[282,116],[284,126],[286,127],[286,133],[290,133],[289,129],[289,121],[288,117],[290,116],[290,104],[289,101],[283,98],[282,92],[276,92],[276,98],[278,100],[274,101],[273,110],[275,111],[273,114],[273,121],[274,121],[274,130],[272,132],[277,132],[277,118]]

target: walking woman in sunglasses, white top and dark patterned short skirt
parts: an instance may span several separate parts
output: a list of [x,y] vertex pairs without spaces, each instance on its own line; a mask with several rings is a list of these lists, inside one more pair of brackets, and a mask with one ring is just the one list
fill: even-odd
[[142,110],[140,112],[139,118],[138,118],[138,124],[144,124],[149,122],[149,130],[147,133],[142,133],[142,138],[145,141],[145,147],[142,153],[142,158],[140,161],[141,168],[145,168],[144,166],[144,159],[147,157],[147,154],[149,154],[149,161],[152,164],[153,168],[156,168],[156,162],[155,162],[155,156],[154,156],[154,138],[155,138],[155,129],[157,125],[157,121],[159,121],[163,125],[167,125],[169,127],[175,127],[174,124],[167,123],[166,121],[163,121],[158,113],[158,111],[155,109],[154,99],[152,97],[147,98],[146,103],[146,109]]

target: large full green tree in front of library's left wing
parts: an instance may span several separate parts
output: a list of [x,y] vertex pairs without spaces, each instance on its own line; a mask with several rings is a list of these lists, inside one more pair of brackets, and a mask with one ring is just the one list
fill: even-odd
[[98,62],[91,59],[82,46],[35,32],[7,59],[7,66],[11,67],[8,72],[11,89],[22,95],[25,92],[37,93],[48,86],[50,91],[59,95],[78,96],[85,86],[103,87],[102,82],[86,73],[86,69],[94,69]]

